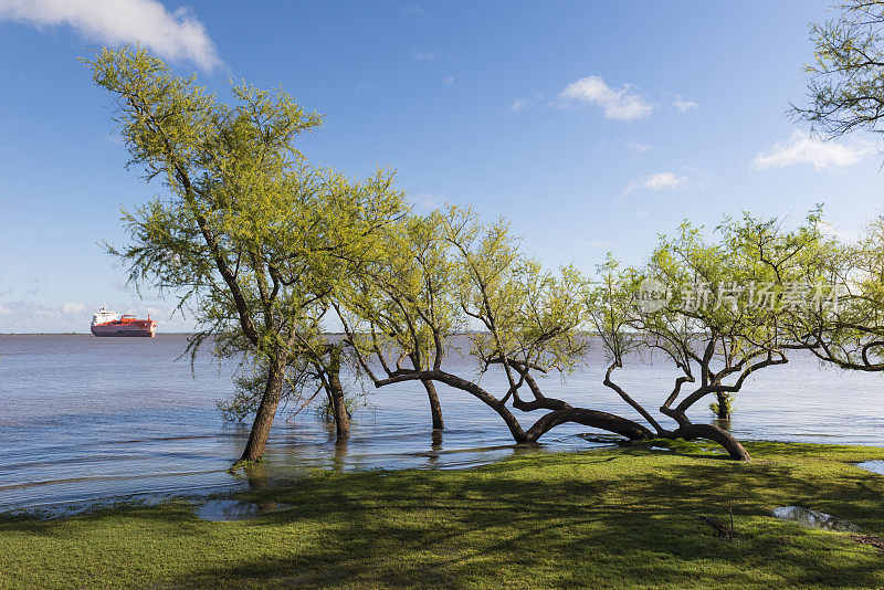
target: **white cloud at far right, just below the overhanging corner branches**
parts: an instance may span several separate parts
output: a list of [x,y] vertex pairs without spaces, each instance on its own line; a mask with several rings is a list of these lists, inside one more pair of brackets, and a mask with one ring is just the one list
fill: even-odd
[[778,143],[769,151],[759,152],[753,166],[757,170],[767,170],[796,164],[811,164],[820,172],[830,168],[848,168],[874,151],[875,148],[867,143],[848,145],[822,141],[798,129],[787,141]]

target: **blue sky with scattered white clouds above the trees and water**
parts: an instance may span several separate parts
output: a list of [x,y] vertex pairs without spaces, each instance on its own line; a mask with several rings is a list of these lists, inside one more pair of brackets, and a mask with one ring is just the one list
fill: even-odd
[[104,302],[190,325],[98,245],[162,187],[125,169],[91,48],[140,42],[223,97],[231,77],[282,86],[326,116],[312,160],[391,166],[418,211],[504,215],[527,252],[591,272],[685,218],[823,202],[850,236],[880,212],[876,144],[785,115],[829,4],[0,0],[0,333],[87,331]]

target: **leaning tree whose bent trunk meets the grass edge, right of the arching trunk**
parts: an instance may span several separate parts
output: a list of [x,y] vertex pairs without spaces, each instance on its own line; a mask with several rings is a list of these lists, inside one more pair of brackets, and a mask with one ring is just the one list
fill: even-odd
[[[747,460],[727,430],[695,423],[687,413],[708,397],[717,398],[719,409],[728,404],[746,379],[788,362],[787,352],[802,347],[786,328],[812,307],[803,261],[822,242],[807,226],[787,231],[777,220],[749,215],[726,220],[716,233],[709,241],[685,222],[674,238],[661,238],[643,267],[621,270],[609,259],[589,301],[590,316],[609,359],[604,384],[657,436],[708,439]],[[643,354],[669,360],[680,372],[659,408],[675,429],[663,426],[613,379]]]

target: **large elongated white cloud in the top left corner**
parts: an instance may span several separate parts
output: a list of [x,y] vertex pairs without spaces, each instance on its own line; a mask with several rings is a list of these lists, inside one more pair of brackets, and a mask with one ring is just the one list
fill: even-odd
[[0,0],[0,20],[73,27],[102,43],[139,43],[161,57],[203,70],[221,64],[206,27],[188,9],[169,12],[157,0]]

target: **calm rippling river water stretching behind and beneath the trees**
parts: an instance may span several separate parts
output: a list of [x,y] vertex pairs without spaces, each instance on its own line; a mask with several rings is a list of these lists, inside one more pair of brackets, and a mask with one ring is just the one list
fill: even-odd
[[[176,361],[186,337],[0,336],[0,510],[140,494],[204,493],[246,487],[225,470],[242,452],[249,423],[221,419],[215,403],[232,392],[232,367],[208,357],[191,372]],[[601,386],[599,351],[590,368],[549,394],[638,418]],[[732,429],[741,439],[884,445],[884,375],[820,368],[809,357],[760,371],[736,401]],[[674,371],[645,364],[617,376],[656,408]],[[483,378],[483,384],[501,384]],[[459,468],[514,452],[499,418],[466,393],[439,387],[446,430],[432,436],[420,384],[372,390],[346,445],[315,412],[291,422],[281,413],[271,436],[267,481],[306,470]],[[708,419],[705,403],[693,418]],[[532,414],[532,419],[536,419]],[[529,420],[524,417],[527,425]],[[586,426],[549,432],[539,451],[588,449]]]

